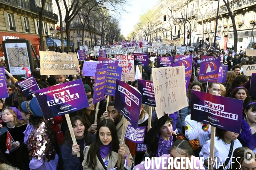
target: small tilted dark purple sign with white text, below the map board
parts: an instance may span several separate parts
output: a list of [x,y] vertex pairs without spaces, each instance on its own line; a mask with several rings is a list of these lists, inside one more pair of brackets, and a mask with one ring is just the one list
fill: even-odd
[[38,84],[35,81],[34,76],[30,76],[23,81],[18,82],[18,87],[21,90],[22,95],[29,96],[36,90],[39,90]]

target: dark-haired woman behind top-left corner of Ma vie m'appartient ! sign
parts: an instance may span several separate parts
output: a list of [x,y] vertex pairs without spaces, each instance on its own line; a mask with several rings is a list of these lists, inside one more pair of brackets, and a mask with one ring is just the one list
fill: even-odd
[[190,113],[191,113],[191,90],[203,92],[203,87],[200,84],[200,82],[194,81],[188,88],[188,96],[187,96],[188,107],[184,107],[180,110],[180,118],[181,118],[181,123],[182,123],[183,134],[185,134],[185,123],[184,123],[185,118],[187,117],[187,115],[190,115]]

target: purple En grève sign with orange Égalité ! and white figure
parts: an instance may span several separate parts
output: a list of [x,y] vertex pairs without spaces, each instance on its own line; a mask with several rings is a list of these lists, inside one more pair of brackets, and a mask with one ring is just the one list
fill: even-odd
[[217,82],[221,58],[203,55],[201,57],[199,80]]

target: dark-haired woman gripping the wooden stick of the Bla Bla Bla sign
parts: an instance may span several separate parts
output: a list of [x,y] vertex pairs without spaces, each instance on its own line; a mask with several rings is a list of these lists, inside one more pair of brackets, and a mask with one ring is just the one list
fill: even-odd
[[[73,127],[77,144],[73,144],[71,134],[67,130],[65,135],[65,143],[62,146],[62,158],[66,170],[82,170],[83,150],[85,146],[89,146],[95,140],[94,134],[89,134],[85,127],[85,120],[80,116],[70,119]],[[77,153],[80,157],[77,157]]]

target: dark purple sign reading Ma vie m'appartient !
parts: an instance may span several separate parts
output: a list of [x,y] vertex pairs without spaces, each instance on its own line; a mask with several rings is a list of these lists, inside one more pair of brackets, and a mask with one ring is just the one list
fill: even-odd
[[191,90],[191,120],[240,133],[242,112],[243,100]]

